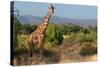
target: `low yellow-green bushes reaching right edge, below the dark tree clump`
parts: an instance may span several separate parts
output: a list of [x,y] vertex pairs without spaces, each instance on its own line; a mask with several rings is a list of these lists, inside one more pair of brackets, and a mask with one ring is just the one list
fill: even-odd
[[[66,39],[66,43],[75,44],[75,43],[95,43],[97,41],[97,34],[95,31],[90,31],[90,33],[85,34],[84,32],[71,33],[70,35],[66,35],[68,38]],[[65,41],[65,40],[64,40]]]

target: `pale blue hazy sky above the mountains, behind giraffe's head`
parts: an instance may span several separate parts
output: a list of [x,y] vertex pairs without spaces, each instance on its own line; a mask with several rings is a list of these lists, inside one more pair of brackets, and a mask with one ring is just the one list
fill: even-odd
[[[50,3],[15,1],[14,7],[20,15],[45,16]],[[76,19],[96,19],[97,7],[86,5],[53,4],[55,16]]]

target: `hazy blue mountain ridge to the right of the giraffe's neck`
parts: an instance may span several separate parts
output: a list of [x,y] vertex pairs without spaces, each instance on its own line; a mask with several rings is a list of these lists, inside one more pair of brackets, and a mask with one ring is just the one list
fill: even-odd
[[80,26],[97,26],[97,20],[93,19],[73,19],[73,18],[61,18],[61,17],[52,17],[51,18],[52,22],[57,22],[57,23],[71,23],[75,25],[80,25]]

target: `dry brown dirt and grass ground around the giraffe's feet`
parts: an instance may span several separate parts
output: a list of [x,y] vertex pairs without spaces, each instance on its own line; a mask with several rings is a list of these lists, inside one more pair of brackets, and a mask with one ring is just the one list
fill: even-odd
[[[78,46],[60,45],[52,50],[44,50],[42,60],[39,61],[39,51],[33,53],[32,57],[28,56],[28,52],[20,51],[16,54],[13,62],[14,65],[32,65],[32,64],[56,64],[56,63],[75,63],[96,61],[97,55],[81,56],[79,54],[81,48]],[[36,56],[36,57],[35,57]]]

